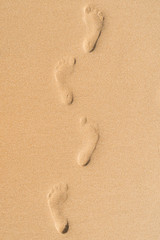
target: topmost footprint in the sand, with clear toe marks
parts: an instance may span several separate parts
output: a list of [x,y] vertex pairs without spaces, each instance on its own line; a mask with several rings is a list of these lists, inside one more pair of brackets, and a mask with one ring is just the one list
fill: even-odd
[[101,34],[104,16],[98,9],[88,5],[84,8],[84,22],[87,28],[87,37],[83,42],[83,48],[85,52],[92,52]]

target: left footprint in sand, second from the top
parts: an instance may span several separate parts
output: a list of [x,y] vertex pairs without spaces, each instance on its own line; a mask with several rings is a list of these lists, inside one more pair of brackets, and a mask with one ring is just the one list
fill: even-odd
[[61,59],[55,67],[55,80],[57,89],[64,104],[71,104],[73,102],[73,92],[69,88],[66,79],[73,72],[76,59],[73,57],[66,57]]

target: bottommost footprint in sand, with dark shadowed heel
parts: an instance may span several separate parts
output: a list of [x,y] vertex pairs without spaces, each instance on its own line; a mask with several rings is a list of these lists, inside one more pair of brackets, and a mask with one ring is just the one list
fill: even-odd
[[61,213],[62,205],[68,197],[67,190],[67,184],[59,183],[54,185],[48,194],[48,205],[59,233],[66,233],[69,229],[68,220]]

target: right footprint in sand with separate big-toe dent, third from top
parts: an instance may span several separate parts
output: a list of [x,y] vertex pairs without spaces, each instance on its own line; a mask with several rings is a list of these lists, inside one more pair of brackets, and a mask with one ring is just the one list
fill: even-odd
[[77,162],[80,166],[86,166],[99,140],[99,130],[97,125],[89,124],[85,117],[81,118],[80,125],[82,130],[82,147],[78,154]]

